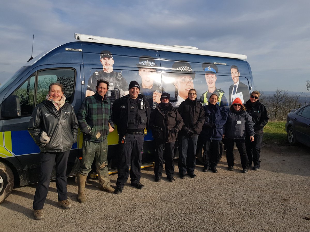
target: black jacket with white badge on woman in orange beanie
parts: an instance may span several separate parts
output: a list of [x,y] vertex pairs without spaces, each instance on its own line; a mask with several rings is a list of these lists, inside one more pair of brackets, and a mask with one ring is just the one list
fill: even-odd
[[227,121],[223,127],[223,135],[228,139],[244,139],[246,133],[254,136],[254,123],[250,114],[244,110],[229,110]]

